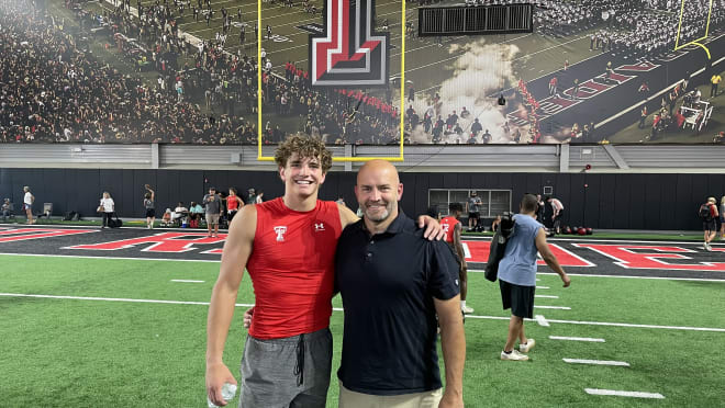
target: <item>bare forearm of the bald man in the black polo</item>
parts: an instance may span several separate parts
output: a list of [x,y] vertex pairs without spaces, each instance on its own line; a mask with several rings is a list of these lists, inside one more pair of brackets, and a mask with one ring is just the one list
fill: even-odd
[[466,333],[460,314],[460,296],[448,301],[434,298],[440,325],[440,348],[446,366],[446,389],[439,407],[464,406],[464,363],[466,362]]

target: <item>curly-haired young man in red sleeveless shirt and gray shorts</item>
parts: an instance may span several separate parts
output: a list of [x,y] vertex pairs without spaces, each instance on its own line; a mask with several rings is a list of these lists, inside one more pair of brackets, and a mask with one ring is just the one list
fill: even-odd
[[[317,200],[332,167],[324,144],[292,136],[275,160],[285,195],[245,205],[230,225],[207,327],[207,394],[216,405],[236,384],[222,355],[245,268],[255,290],[254,321],[242,360],[242,407],[324,407],[332,369],[330,316],[337,239],[358,217]],[[424,219],[419,219],[423,226]],[[425,236],[439,226],[425,218]]]

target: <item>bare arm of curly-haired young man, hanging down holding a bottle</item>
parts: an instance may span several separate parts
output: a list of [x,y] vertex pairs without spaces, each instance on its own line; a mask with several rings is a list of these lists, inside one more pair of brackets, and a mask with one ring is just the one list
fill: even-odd
[[236,384],[234,375],[224,365],[222,356],[228,335],[234,303],[239,291],[244,269],[252,254],[254,234],[257,228],[257,208],[244,206],[230,225],[224,242],[219,279],[212,291],[207,319],[207,394],[216,405],[226,405],[222,399],[222,385]]

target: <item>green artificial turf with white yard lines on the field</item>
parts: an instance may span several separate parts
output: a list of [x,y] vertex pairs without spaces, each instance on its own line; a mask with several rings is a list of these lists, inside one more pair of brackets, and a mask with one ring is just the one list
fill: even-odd
[[[209,302],[215,262],[0,256],[0,292],[116,299]],[[722,404],[725,332],[526,324],[537,340],[529,362],[503,362],[506,313],[497,284],[469,274],[465,400],[468,407],[705,407]],[[203,283],[176,283],[172,279]],[[546,319],[725,328],[725,283],[539,274],[535,309]],[[237,299],[254,302],[248,276]],[[339,297],[333,302],[341,306]],[[224,360],[238,372],[244,329],[237,308]],[[484,317],[484,318],[476,318]],[[495,319],[501,317],[503,319]],[[200,407],[204,404],[205,305],[0,296],[0,395],[8,407]],[[343,315],[333,313],[333,370]],[[604,343],[548,336],[604,338]],[[629,367],[573,365],[564,358],[614,360]],[[238,376],[237,376],[238,377]],[[590,396],[583,388],[660,393],[663,400]],[[335,407],[333,374],[328,406]],[[236,400],[233,403],[236,406]]]

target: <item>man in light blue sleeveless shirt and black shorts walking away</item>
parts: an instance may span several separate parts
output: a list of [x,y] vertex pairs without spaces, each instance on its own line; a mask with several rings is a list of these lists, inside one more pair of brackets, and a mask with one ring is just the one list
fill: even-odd
[[[526,361],[527,353],[536,341],[526,339],[524,318],[534,315],[534,292],[536,290],[536,252],[538,251],[549,268],[558,273],[568,287],[571,281],[564,272],[546,243],[544,226],[536,220],[538,200],[534,194],[525,194],[521,201],[521,211],[514,215],[514,230],[506,243],[506,250],[499,264],[499,285],[503,309],[511,309],[509,338],[501,352],[501,360]],[[518,339],[518,351],[514,344]]]

